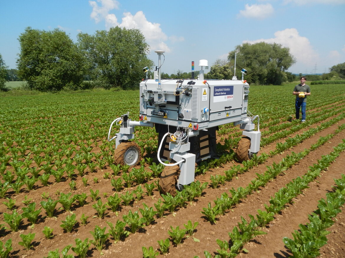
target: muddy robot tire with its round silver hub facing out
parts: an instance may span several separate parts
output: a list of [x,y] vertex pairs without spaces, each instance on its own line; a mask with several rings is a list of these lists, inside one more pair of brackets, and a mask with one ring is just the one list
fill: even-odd
[[114,152],[114,162],[133,167],[140,161],[141,149],[135,142],[121,142]]

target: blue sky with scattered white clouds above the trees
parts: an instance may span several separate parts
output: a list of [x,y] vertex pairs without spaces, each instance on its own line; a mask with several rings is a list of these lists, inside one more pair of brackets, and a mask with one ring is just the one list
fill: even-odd
[[290,48],[289,72],[324,73],[345,62],[344,13],[345,0],[0,0],[0,54],[16,68],[28,26],[60,28],[75,42],[79,32],[120,26],[142,31],[156,65],[154,51],[164,50],[168,74],[190,72],[191,61],[198,70],[201,59],[211,66],[237,45],[260,41]]

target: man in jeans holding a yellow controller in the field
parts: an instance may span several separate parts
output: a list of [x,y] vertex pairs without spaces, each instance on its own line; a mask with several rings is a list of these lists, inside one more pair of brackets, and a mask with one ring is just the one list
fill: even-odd
[[294,92],[292,95],[296,95],[296,119],[299,119],[299,110],[302,107],[302,120],[301,122],[305,122],[306,117],[306,107],[307,107],[307,96],[310,96],[310,87],[309,85],[305,84],[306,77],[300,78],[300,84],[297,84],[294,88]]

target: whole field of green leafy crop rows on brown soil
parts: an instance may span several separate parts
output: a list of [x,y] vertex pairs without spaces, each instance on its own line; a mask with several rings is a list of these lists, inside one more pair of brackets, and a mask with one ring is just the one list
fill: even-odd
[[251,86],[259,153],[239,163],[221,126],[175,197],[154,128],[136,127],[139,165],[114,164],[110,123],[138,120],[139,90],[0,97],[0,257],[345,257],[345,84],[311,85],[304,123],[294,86]]

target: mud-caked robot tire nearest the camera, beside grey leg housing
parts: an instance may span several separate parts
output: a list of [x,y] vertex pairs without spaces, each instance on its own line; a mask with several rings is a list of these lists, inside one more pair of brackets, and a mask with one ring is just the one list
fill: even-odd
[[180,168],[176,166],[165,166],[159,179],[160,192],[162,194],[169,193],[172,196],[176,195],[176,187]]

